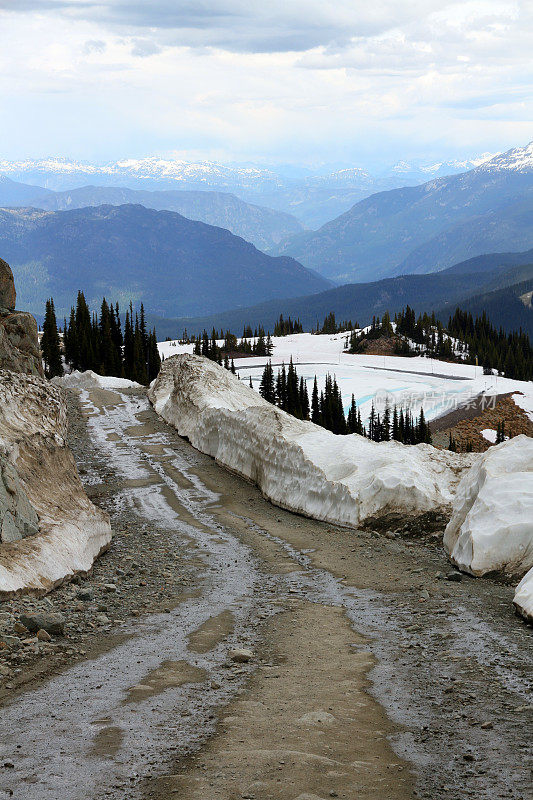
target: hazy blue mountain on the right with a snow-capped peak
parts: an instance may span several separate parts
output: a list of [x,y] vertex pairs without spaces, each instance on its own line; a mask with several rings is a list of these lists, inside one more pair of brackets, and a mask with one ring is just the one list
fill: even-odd
[[473,170],[380,192],[278,252],[337,283],[435,272],[533,246],[533,142]]

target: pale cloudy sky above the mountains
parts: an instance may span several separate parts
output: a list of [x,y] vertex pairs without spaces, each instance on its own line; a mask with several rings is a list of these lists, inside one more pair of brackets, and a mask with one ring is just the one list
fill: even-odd
[[1,155],[369,168],[533,139],[532,0],[0,0]]

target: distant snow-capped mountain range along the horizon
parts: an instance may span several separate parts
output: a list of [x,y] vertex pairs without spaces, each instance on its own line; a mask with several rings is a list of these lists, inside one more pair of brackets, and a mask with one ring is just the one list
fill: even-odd
[[[48,158],[0,160],[0,174],[61,192],[90,184],[152,191],[232,193],[241,200],[290,213],[306,227],[318,228],[378,191],[419,184],[429,177],[464,172],[489,157],[485,154],[474,160],[429,164],[400,162],[376,175],[352,167],[328,174],[296,177],[254,166],[189,163],[163,158],[122,159],[106,164]],[[170,210],[179,211],[177,208]]]

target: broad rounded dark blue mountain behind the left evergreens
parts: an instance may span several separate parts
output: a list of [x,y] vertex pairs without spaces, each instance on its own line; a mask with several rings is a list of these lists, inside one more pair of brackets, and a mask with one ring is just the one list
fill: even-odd
[[290,257],[273,257],[223,228],[141,205],[72,211],[0,209],[0,253],[19,303],[60,316],[78,289],[160,316],[207,314],[265,298],[319,292],[331,283]]

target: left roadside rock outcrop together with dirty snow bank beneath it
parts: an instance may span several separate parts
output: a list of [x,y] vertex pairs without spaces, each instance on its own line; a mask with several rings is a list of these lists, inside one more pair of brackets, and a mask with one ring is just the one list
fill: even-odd
[[0,259],[0,596],[45,593],[87,572],[111,541],[66,446],[61,389],[43,377],[37,323],[15,311]]

